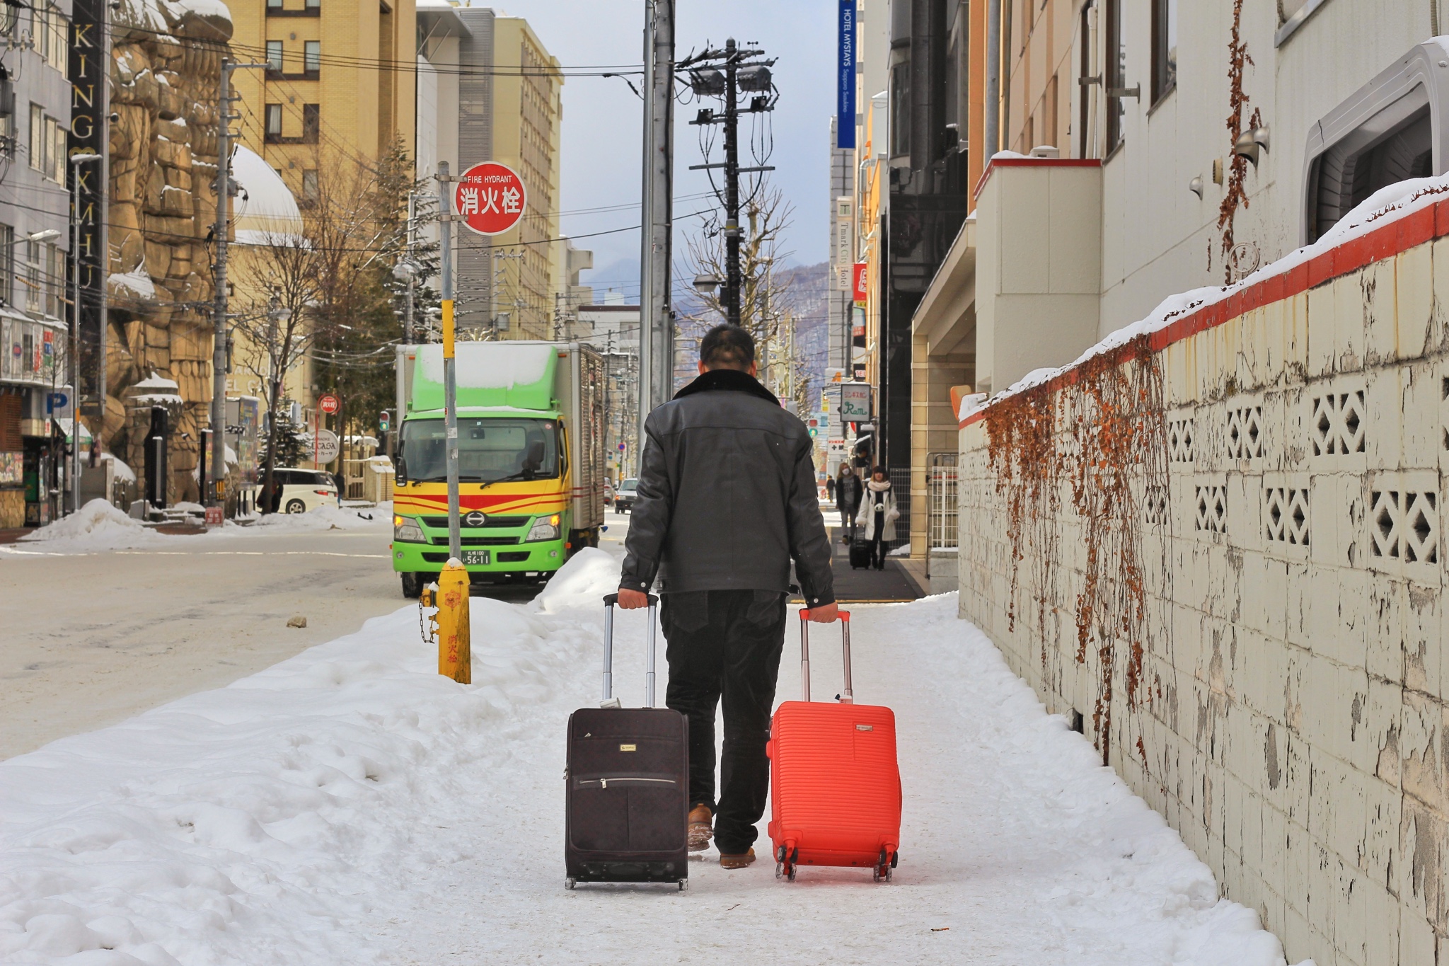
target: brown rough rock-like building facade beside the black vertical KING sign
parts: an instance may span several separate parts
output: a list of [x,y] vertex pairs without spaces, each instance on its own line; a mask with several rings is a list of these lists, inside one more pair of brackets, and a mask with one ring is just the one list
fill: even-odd
[[126,3],[110,65],[110,339],[106,449],[141,466],[145,410],[126,390],[158,372],[184,400],[172,426],[172,498],[196,498],[212,401],[212,256],[217,87],[232,26],[170,4]]

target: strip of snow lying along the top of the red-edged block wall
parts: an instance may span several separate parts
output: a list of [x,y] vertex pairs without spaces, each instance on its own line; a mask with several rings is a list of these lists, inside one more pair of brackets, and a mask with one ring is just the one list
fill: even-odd
[[[1191,291],[1168,295],[1156,308],[1152,310],[1151,314],[1148,314],[1146,319],[1140,319],[1110,333],[1106,339],[1081,353],[1075,362],[1055,369],[1033,369],[1006,390],[1001,390],[991,397],[988,404],[1009,395],[1016,395],[1017,392],[1024,392],[1026,390],[1045,382],[1051,382],[1068,369],[1074,369],[1093,356],[1123,346],[1137,336],[1152,335],[1153,332],[1166,329],[1177,319],[1187,316],[1203,306],[1214,306],[1220,301],[1227,301],[1232,295],[1252,288],[1261,281],[1266,281],[1274,275],[1282,275],[1306,262],[1313,261],[1319,255],[1324,255],[1348,240],[1368,235],[1375,229],[1398,222],[1400,219],[1423,209],[1433,207],[1439,201],[1445,200],[1449,200],[1449,174],[1432,178],[1408,178],[1407,181],[1398,181],[1397,184],[1379,188],[1361,201],[1352,211],[1339,219],[1339,222],[1332,229],[1324,232],[1323,238],[1313,245],[1306,245],[1300,249],[1288,252],[1278,261],[1264,265],[1252,275],[1248,275],[1233,285],[1210,285],[1207,288],[1194,288]],[[961,416],[959,419],[965,419],[965,416]]]

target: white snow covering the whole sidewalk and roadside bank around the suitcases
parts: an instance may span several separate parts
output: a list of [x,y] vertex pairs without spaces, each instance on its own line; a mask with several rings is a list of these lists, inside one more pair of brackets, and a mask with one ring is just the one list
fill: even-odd
[[[713,852],[688,892],[562,885],[564,728],[597,700],[603,552],[527,605],[472,601],[474,682],[416,608],[0,763],[0,962],[1268,966],[1175,833],[1048,717],[955,598],[859,607],[856,700],[895,708],[895,881]],[[643,617],[616,681],[642,694]],[[822,695],[838,681],[814,634]],[[798,689],[797,637],[781,697]],[[833,658],[833,660],[832,660]]]

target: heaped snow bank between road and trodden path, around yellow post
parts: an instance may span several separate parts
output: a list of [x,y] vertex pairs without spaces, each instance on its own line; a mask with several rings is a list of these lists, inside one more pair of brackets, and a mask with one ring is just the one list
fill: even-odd
[[375,962],[397,870],[458,857],[438,802],[496,794],[478,779],[507,749],[481,739],[591,643],[485,598],[472,627],[472,686],[436,673],[406,607],[0,765],[0,960]]

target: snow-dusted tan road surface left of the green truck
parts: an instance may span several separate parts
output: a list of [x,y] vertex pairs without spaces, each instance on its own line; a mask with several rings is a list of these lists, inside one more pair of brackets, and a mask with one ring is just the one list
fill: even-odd
[[[371,521],[332,510],[203,536],[107,510],[0,546],[0,759],[219,688],[403,604],[385,507],[364,511]],[[287,627],[296,614],[307,627]]]

